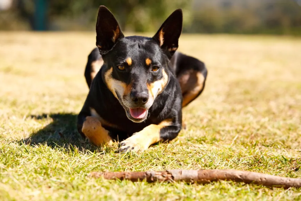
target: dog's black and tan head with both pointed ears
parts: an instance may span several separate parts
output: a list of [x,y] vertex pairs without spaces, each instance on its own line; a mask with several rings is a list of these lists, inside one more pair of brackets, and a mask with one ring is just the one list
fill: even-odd
[[178,48],[182,19],[178,9],[154,37],[124,37],[113,14],[99,7],[96,46],[107,66],[103,79],[133,122],[147,118],[149,108],[169,82],[167,65]]

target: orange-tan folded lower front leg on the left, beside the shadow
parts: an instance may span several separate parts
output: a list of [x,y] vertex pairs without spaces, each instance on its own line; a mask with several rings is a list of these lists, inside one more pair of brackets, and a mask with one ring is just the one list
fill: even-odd
[[89,139],[89,142],[96,146],[113,144],[109,131],[102,127],[100,120],[95,116],[86,117],[82,125],[82,132]]

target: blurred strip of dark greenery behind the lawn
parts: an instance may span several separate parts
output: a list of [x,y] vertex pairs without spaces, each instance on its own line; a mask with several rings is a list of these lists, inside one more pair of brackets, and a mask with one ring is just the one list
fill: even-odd
[[128,32],[156,31],[182,8],[183,33],[301,35],[301,0],[0,0],[0,30],[95,30],[99,5]]

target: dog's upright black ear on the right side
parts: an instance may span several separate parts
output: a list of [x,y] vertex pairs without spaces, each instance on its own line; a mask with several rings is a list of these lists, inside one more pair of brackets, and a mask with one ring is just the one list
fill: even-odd
[[162,24],[153,37],[160,47],[170,53],[170,57],[178,49],[178,40],[182,32],[183,14],[181,9],[175,10]]

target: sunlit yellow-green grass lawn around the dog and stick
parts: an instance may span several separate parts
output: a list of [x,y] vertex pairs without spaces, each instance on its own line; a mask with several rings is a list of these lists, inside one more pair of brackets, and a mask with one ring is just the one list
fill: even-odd
[[0,200],[300,200],[300,189],[234,182],[132,183],[90,171],[238,169],[301,177],[301,38],[183,35],[209,70],[188,129],[144,153],[79,138],[94,33],[0,33]]

